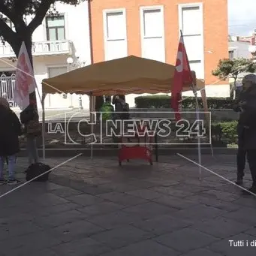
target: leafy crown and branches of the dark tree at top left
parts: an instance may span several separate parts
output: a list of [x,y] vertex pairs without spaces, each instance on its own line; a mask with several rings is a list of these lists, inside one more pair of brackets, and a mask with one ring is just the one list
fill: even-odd
[[[44,17],[57,14],[56,3],[79,5],[85,0],[0,0],[0,37],[11,44],[16,56],[19,54],[22,41],[26,43],[28,52],[32,47],[32,34],[44,20]],[[32,21],[26,24],[26,17]],[[15,32],[6,23],[11,20]],[[31,53],[30,58],[32,59]]]

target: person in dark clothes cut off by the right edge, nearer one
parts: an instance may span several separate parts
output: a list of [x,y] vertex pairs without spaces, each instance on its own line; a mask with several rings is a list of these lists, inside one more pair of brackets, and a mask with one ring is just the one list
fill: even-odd
[[245,89],[245,98],[239,102],[242,113],[239,123],[242,125],[242,146],[246,151],[251,171],[252,185],[248,190],[256,194],[256,76],[246,75],[242,84]]

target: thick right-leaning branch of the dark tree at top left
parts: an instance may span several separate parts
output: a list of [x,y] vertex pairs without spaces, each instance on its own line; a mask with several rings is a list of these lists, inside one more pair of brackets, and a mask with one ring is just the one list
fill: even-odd
[[55,2],[55,0],[44,0],[41,2],[38,10],[35,12],[35,18],[29,23],[28,29],[30,33],[33,33],[38,26],[41,25],[44,17],[47,14],[47,11],[50,9],[50,6]]

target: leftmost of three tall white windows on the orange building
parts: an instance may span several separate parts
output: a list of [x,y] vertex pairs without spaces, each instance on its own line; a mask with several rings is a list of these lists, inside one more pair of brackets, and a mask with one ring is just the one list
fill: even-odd
[[127,56],[125,10],[104,10],[103,15],[105,60]]

